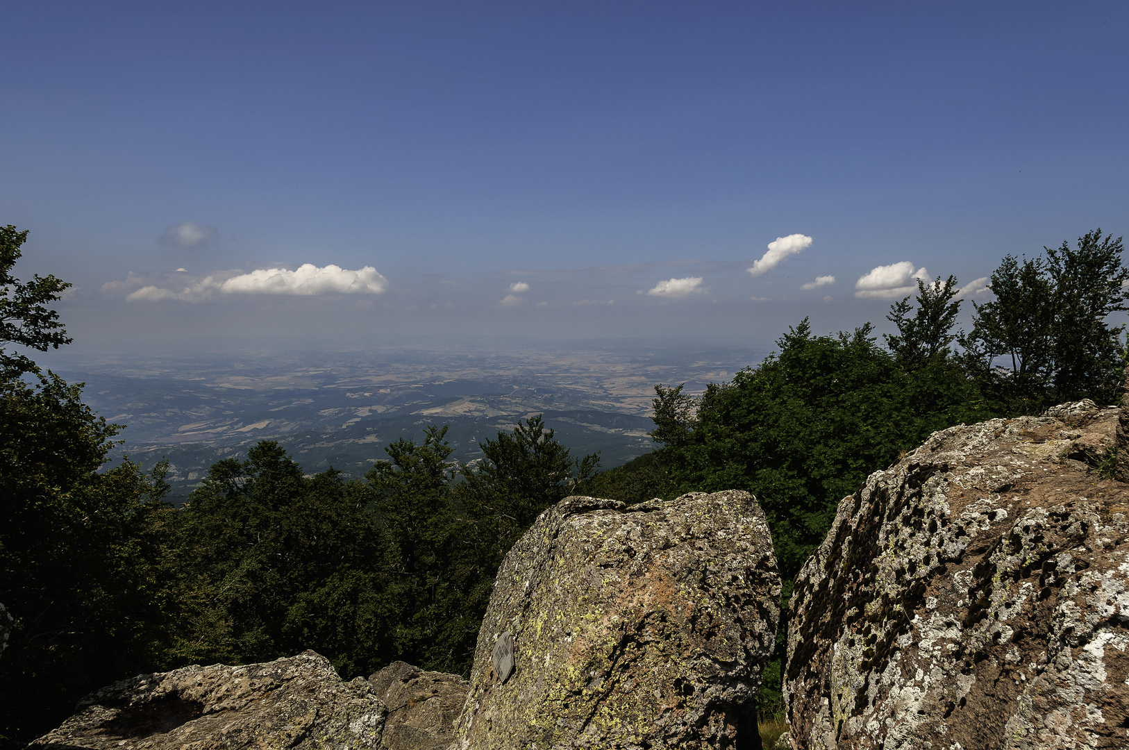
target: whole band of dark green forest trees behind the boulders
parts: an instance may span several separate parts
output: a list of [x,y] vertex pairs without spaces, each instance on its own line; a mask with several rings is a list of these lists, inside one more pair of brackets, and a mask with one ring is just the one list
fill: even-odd
[[[364,479],[306,476],[264,441],[174,507],[164,465],[103,469],[120,428],[80,385],[8,351],[70,341],[51,307],[69,285],[11,276],[25,237],[0,227],[0,603],[14,618],[0,748],[58,724],[91,689],[190,663],[314,648],[347,679],[397,659],[465,673],[501,559],[571,494],[747,489],[790,579],[839,499],[933,430],[1112,403],[1126,365],[1110,315],[1127,309],[1129,269],[1121,238],[1096,230],[1005,258],[970,331],[956,328],[956,280],[937,278],[891,306],[896,333],[882,343],[869,324],[817,335],[804,320],[732,382],[700,395],[657,385],[657,450],[610,471],[535,417],[483,441],[475,465],[452,462],[446,428],[428,427]],[[779,665],[765,677],[770,708]]]

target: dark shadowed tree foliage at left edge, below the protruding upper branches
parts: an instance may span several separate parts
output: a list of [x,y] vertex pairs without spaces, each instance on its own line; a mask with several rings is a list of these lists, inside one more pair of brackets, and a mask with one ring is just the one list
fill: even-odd
[[117,431],[53,374],[0,382],[0,602],[14,616],[0,659],[0,738],[61,721],[110,674],[164,648],[157,477],[97,470]]

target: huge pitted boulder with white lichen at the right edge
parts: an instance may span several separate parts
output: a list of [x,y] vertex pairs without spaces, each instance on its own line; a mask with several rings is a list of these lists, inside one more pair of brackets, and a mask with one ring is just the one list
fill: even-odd
[[1120,411],[935,433],[839,504],[791,599],[793,748],[1129,747],[1129,487],[1071,457]]

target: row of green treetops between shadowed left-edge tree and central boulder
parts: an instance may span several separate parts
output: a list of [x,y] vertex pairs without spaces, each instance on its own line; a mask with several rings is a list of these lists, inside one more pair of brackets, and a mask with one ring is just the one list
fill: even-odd
[[446,433],[396,441],[365,483],[304,477],[269,441],[216,463],[175,518],[170,663],[315,648],[347,675],[394,660],[466,672],[501,559],[597,457],[533,417],[456,466]]

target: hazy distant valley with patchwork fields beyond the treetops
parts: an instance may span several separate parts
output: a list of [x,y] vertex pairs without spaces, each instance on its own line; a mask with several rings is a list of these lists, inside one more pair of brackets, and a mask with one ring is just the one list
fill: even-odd
[[384,447],[449,425],[460,462],[482,459],[479,442],[544,415],[574,455],[599,451],[602,468],[654,447],[656,383],[698,392],[754,361],[753,352],[624,348],[375,351],[208,357],[102,357],[62,369],[85,382],[85,400],[125,425],[115,450],[149,468],[169,461],[173,499],[183,500],[225,457],[279,441],[307,472],[329,466],[359,477]]

